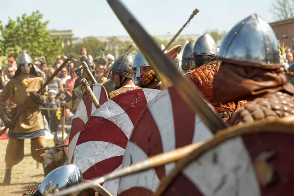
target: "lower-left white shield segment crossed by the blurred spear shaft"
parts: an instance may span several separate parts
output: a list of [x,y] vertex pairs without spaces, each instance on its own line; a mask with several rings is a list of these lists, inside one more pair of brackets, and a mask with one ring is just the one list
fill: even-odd
[[[128,141],[125,154],[123,156],[122,166],[125,168],[147,158],[147,154],[141,148],[139,148],[135,143]],[[143,187],[154,193],[158,188],[159,182],[160,181],[157,177],[155,169],[148,169],[122,177],[120,179],[118,193],[121,194],[132,187]]]

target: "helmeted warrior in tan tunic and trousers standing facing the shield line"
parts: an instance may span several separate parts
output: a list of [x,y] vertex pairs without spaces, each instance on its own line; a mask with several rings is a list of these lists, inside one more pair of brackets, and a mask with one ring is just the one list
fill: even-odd
[[[31,57],[23,53],[18,60],[18,69],[14,77],[5,85],[0,93],[0,118],[9,128],[8,144],[6,148],[5,162],[6,172],[3,184],[9,185],[11,180],[12,166],[21,162],[24,158],[24,139],[31,140],[31,155],[33,159],[44,163],[44,151],[36,151],[45,147],[45,126],[39,105],[45,105],[48,98],[47,89],[41,94],[36,91],[44,84],[44,80],[38,77]],[[12,101],[17,107],[11,115],[18,115],[22,107],[27,104],[29,107],[21,113],[14,122],[7,114],[6,101],[12,96]]]

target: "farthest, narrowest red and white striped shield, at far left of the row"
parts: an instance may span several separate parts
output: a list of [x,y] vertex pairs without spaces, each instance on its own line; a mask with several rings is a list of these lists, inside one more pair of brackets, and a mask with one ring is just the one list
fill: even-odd
[[[93,84],[91,85],[91,89],[93,90],[98,102],[100,105],[104,104],[108,100],[107,92],[103,85],[101,84]],[[80,134],[80,131],[83,129],[86,122],[90,119],[91,115],[96,111],[96,107],[90,99],[87,92],[83,94],[83,98],[80,100],[78,104],[77,110],[74,113],[72,129],[69,138],[69,154],[68,159],[69,163],[72,162],[74,148],[76,146],[76,141]]]

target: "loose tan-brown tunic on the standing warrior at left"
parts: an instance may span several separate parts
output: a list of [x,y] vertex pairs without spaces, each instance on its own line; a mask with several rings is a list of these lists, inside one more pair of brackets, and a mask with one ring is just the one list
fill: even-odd
[[[18,76],[11,79],[3,88],[0,93],[0,109],[5,109],[6,101],[10,95],[12,95],[12,102],[17,107],[11,112],[14,116],[21,111],[22,107],[27,101],[29,101],[29,92],[38,91],[44,84],[44,80],[41,77],[34,78],[29,84],[24,84],[21,78]],[[48,92],[45,88],[42,93],[45,100],[48,98]],[[18,120],[15,122],[15,128],[10,129],[13,133],[30,133],[44,129],[44,120],[42,113],[38,109],[38,105],[32,101],[29,101],[29,107],[25,112],[21,114]]]

